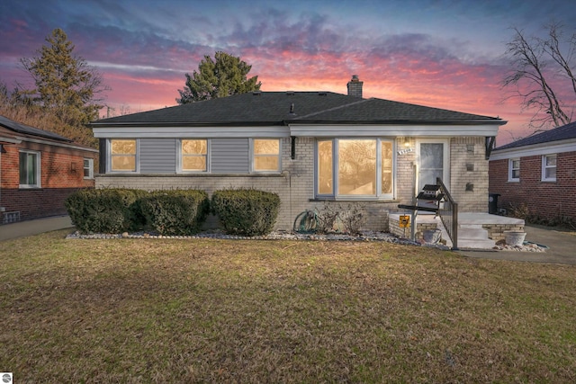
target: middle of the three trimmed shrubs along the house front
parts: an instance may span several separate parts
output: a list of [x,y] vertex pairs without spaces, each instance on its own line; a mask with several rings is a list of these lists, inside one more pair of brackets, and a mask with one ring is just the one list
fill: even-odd
[[162,235],[193,235],[210,211],[208,194],[196,190],[150,192],[139,201],[148,226]]

